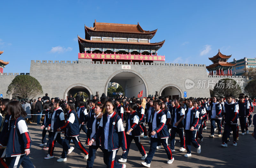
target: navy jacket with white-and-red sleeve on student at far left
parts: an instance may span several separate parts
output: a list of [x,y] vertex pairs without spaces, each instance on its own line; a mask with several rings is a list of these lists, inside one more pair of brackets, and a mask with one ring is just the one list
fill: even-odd
[[18,117],[16,120],[11,120],[9,131],[5,157],[25,155],[25,150],[31,147],[31,139],[24,118]]

